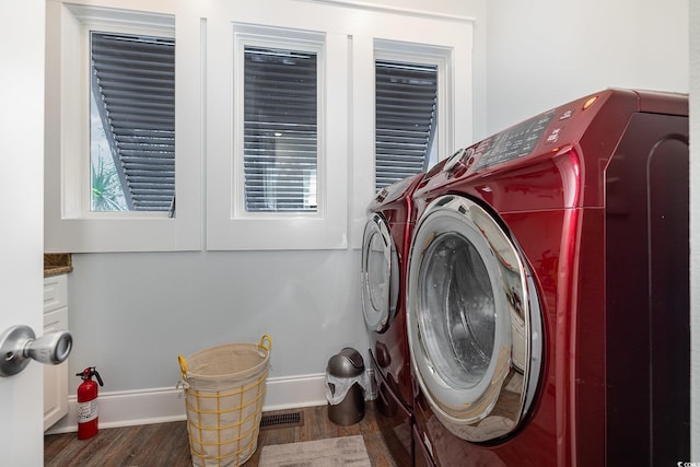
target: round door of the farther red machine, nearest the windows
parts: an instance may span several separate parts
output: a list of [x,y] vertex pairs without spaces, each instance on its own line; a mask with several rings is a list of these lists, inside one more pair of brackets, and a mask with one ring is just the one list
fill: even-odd
[[396,314],[399,268],[388,224],[380,213],[364,226],[361,275],[364,322],[368,329],[382,332]]

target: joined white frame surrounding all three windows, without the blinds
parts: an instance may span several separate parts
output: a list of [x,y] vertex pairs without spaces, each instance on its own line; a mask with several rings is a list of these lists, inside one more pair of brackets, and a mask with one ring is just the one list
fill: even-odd
[[[75,208],[84,201],[71,187],[89,168],[79,157],[81,144],[88,148],[88,126],[75,122],[89,107],[75,104],[81,93],[74,85],[86,81],[74,71],[85,11],[137,28],[176,25],[174,219],[135,212],[103,218]],[[324,38],[318,124],[325,130],[318,135],[314,215],[247,215],[237,207],[234,44],[241,26]],[[439,117],[442,159],[472,140],[472,28],[469,17],[346,0],[266,0],[245,8],[228,0],[47,0],[46,252],[360,248],[374,195],[375,44],[451,50],[451,108]]]

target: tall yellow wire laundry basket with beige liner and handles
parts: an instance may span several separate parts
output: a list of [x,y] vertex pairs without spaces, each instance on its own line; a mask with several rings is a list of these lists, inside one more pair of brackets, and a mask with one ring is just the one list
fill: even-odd
[[179,355],[192,465],[238,466],[255,453],[272,340]]

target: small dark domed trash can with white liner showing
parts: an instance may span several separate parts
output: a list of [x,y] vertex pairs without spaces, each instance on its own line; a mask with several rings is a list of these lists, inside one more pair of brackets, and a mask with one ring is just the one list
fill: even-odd
[[330,421],[349,425],[362,420],[365,380],[364,361],[357,350],[347,347],[328,360],[326,396]]

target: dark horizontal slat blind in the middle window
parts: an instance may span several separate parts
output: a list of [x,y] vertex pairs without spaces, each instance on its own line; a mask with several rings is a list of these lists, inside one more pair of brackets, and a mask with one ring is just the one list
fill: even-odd
[[314,212],[316,54],[245,47],[244,67],[246,211]]

